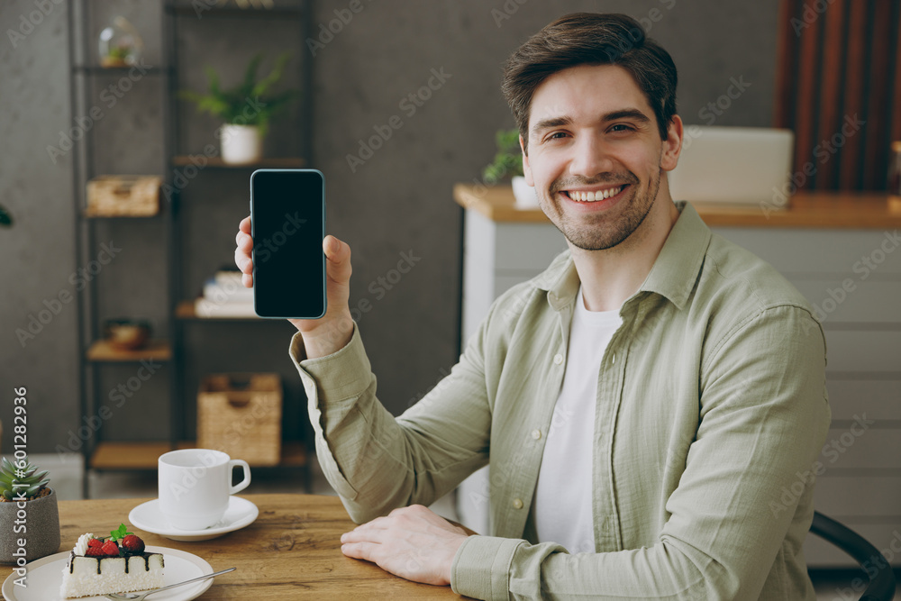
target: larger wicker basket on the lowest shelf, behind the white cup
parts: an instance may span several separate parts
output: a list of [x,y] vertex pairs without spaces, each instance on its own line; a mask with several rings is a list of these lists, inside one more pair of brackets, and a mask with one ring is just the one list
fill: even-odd
[[214,374],[197,395],[197,446],[251,466],[278,464],[282,388],[278,374]]

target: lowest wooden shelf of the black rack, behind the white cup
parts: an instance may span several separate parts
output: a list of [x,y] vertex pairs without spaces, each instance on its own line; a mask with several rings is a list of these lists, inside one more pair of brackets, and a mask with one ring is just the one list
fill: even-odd
[[[194,449],[193,441],[178,442],[177,449]],[[91,469],[157,469],[157,459],[163,453],[173,451],[169,442],[98,442],[91,455]],[[236,457],[233,459],[241,459]],[[306,465],[306,450],[303,442],[287,441],[282,443],[281,468],[302,468]],[[270,466],[255,466],[263,468]]]

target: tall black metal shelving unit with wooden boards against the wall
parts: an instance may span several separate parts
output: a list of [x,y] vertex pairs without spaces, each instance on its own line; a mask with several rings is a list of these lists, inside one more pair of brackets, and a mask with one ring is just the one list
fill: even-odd
[[[72,115],[86,114],[91,104],[93,85],[101,77],[122,77],[127,74],[130,67],[105,68],[99,66],[92,50],[96,42],[92,35],[92,7],[100,0],[73,0],[68,12],[69,34],[69,73],[70,73],[70,98],[69,103]],[[198,327],[199,323],[214,323],[215,327],[227,327],[233,319],[197,318],[191,314],[187,307],[187,301],[181,287],[181,265],[178,260],[181,250],[181,230],[178,223],[180,190],[173,186],[173,180],[179,169],[188,168],[187,155],[179,154],[178,143],[178,31],[180,20],[185,18],[197,18],[197,7],[203,8],[203,18],[224,19],[257,19],[278,17],[295,20],[298,27],[299,40],[303,42],[310,37],[312,28],[312,0],[274,0],[272,8],[246,7],[242,8],[232,3],[214,5],[213,3],[196,3],[187,0],[159,0],[161,9],[161,35],[163,60],[161,65],[152,65],[145,68],[144,75],[161,78],[165,86],[165,101],[161,107],[161,131],[163,136],[163,149],[165,152],[165,173],[163,174],[164,186],[173,190],[171,194],[160,192],[159,214],[151,217],[88,217],[86,208],[86,184],[87,181],[97,175],[95,166],[95,140],[94,132],[86,132],[82,140],[73,145],[73,187],[76,211],[76,260],[77,265],[85,265],[96,248],[96,223],[101,221],[117,223],[122,220],[145,219],[155,222],[163,221],[162,248],[166,254],[167,282],[166,303],[168,305],[168,327],[165,329],[164,338],[151,346],[150,350],[134,353],[121,353],[119,355],[98,354],[96,342],[101,341],[101,319],[98,314],[98,289],[97,280],[92,278],[88,285],[77,291],[78,312],[78,389],[79,407],[81,414],[85,416],[95,415],[99,410],[102,400],[100,398],[100,373],[104,365],[109,362],[121,363],[123,361],[140,361],[143,356],[151,351],[159,351],[154,355],[155,360],[164,360],[168,370],[168,409],[170,423],[168,427],[168,441],[150,442],[132,445],[125,449],[111,447],[103,442],[102,428],[83,441],[80,451],[85,461],[85,478],[83,491],[85,497],[90,496],[89,474],[94,470],[115,469],[156,469],[156,457],[160,451],[175,449],[179,446],[189,445],[187,433],[184,432],[185,408],[188,401],[194,399],[182,398],[184,360],[186,353],[183,349],[183,329]],[[128,15],[125,15],[126,18]],[[250,42],[249,42],[250,43]],[[302,45],[302,43],[301,43]],[[233,167],[217,163],[209,166],[209,174],[203,177],[215,177],[214,173],[223,169],[249,169],[261,166],[299,167],[310,163],[312,151],[312,94],[309,91],[313,86],[312,61],[306,53],[301,53],[299,61],[299,79],[303,93],[300,95],[301,106],[299,109],[300,120],[300,157],[281,159],[263,159],[258,166]],[[164,188],[165,189],[165,188]],[[262,322],[262,320],[259,320]],[[309,490],[310,479],[308,468],[306,442],[309,436],[305,435],[304,441],[283,445],[283,463],[281,467],[298,467],[304,469],[305,486]],[[123,452],[123,449],[125,450]],[[100,452],[102,451],[102,452]],[[103,460],[98,458],[103,456]]]

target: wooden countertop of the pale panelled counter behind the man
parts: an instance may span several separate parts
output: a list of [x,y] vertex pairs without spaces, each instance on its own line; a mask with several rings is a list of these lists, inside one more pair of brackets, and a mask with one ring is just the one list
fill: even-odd
[[[549,223],[540,208],[519,208],[509,186],[457,184],[453,197],[494,222]],[[901,227],[901,202],[885,192],[798,192],[788,208],[694,204],[710,226],[882,229]]]

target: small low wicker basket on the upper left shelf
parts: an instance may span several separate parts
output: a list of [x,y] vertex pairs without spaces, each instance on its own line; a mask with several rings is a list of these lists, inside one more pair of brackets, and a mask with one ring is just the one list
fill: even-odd
[[88,217],[149,217],[159,213],[157,176],[100,176],[87,182]]

